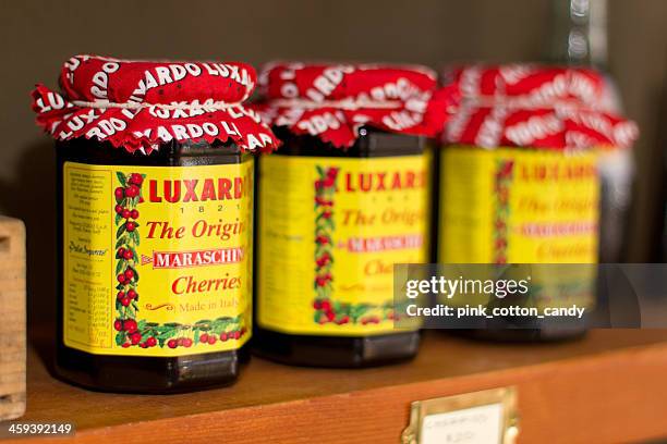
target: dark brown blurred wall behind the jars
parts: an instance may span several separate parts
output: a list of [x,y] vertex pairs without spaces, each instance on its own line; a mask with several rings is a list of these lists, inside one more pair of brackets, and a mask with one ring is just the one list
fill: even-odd
[[[563,0],[563,8],[566,1]],[[174,1],[3,0],[0,3],[0,211],[28,235],[33,322],[54,301],[52,140],[34,124],[29,90],[56,86],[76,53],[119,58],[359,60],[423,63],[538,61],[548,0]],[[631,261],[655,259],[667,147],[667,1],[609,0],[609,64],[641,127],[628,238]]]

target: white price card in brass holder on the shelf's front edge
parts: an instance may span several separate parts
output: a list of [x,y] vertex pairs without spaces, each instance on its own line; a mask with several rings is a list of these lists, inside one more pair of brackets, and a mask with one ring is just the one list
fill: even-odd
[[514,387],[412,403],[404,444],[509,444],[519,433]]

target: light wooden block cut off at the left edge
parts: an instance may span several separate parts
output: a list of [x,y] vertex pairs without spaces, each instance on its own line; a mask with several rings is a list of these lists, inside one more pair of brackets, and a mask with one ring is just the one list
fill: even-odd
[[25,410],[25,229],[0,217],[0,420]]

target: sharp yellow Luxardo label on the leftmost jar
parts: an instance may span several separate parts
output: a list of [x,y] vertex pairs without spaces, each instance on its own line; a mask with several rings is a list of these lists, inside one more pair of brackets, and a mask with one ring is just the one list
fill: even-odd
[[253,162],[63,168],[64,344],[172,357],[252,322]]

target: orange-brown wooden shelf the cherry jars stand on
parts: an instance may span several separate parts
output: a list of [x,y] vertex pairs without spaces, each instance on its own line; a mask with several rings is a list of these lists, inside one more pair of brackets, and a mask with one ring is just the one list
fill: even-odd
[[74,422],[77,443],[396,443],[413,400],[516,385],[522,443],[667,436],[667,331],[594,331],[550,345],[428,332],[404,365],[328,370],[255,358],[244,370],[227,388],[112,395],[52,379],[33,351],[22,420]]

